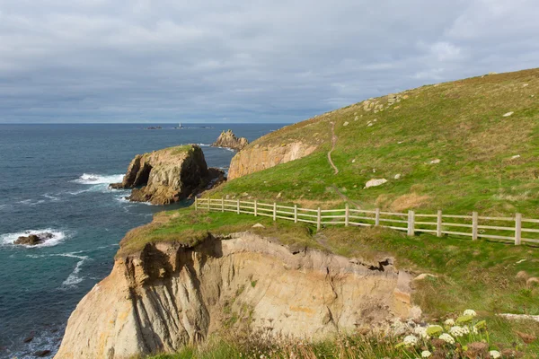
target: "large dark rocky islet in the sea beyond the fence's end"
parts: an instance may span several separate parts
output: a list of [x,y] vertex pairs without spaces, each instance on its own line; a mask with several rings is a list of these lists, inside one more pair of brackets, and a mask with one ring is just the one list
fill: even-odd
[[132,188],[129,200],[169,205],[225,180],[221,170],[208,168],[196,144],[137,154],[121,183],[110,188]]

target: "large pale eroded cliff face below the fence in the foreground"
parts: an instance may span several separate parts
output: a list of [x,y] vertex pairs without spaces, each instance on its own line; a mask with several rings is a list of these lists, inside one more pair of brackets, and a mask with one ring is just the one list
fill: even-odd
[[292,252],[249,232],[208,234],[195,248],[148,244],[117,258],[110,276],[79,302],[55,358],[170,353],[230,325],[233,314],[234,326],[294,337],[377,326],[413,312],[410,279],[391,259],[369,265]]

